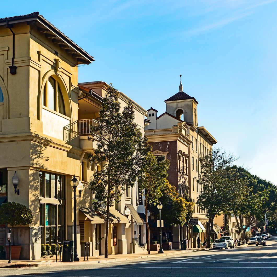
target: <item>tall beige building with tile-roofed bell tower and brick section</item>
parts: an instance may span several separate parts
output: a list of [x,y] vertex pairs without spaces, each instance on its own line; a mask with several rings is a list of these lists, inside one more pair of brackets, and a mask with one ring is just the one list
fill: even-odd
[[[197,105],[194,97],[183,92],[180,82],[179,92],[165,100],[166,112],[157,116],[154,108],[148,110],[147,119],[151,123],[145,127],[145,135],[153,147],[153,154],[170,160],[168,171],[169,182],[180,194],[186,191],[196,203],[202,191],[197,183],[200,173],[199,158],[212,151],[216,139],[206,130],[198,126]],[[173,228],[173,247],[179,248],[179,242],[187,237],[188,247],[196,247],[197,236],[201,242],[206,238],[206,212],[197,204],[194,207],[194,218],[198,225],[188,228]]]

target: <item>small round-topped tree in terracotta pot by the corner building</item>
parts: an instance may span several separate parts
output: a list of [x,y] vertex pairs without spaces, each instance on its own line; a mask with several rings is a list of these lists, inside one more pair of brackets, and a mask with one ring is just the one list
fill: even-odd
[[[15,245],[14,241],[14,226],[28,225],[34,220],[32,211],[25,205],[17,202],[7,202],[0,206],[0,224],[9,224],[12,226],[12,245],[11,259],[19,260],[21,245]],[[9,255],[9,247],[6,246],[6,255]],[[7,256],[8,257],[8,256]]]

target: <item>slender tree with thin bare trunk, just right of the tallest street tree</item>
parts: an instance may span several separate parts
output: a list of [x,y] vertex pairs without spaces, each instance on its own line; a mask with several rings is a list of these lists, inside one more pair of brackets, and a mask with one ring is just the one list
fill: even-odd
[[146,225],[148,230],[147,238],[147,249],[148,254],[150,254],[150,229],[148,224],[147,210],[148,205],[152,204],[156,206],[159,198],[163,195],[162,191],[167,182],[166,177],[168,176],[170,161],[164,160],[158,162],[158,160],[153,156],[151,151],[149,151],[145,158],[145,164],[143,166],[142,182],[140,189],[142,189],[145,207],[145,217]]

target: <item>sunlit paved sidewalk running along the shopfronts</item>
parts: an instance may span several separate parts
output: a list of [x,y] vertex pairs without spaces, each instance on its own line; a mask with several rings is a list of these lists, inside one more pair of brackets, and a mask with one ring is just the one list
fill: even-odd
[[[200,249],[188,249],[188,250],[164,250],[163,254],[158,254],[157,251],[152,251],[150,255],[147,254],[117,254],[117,255],[109,255],[107,259],[103,256],[99,257],[88,257],[88,261],[84,261],[84,257],[80,257],[79,262],[57,262],[56,263],[56,256],[52,258],[47,259],[41,259],[41,260],[34,260],[34,261],[12,261],[11,264],[8,264],[7,260],[0,260],[0,268],[11,268],[11,267],[38,267],[38,266],[61,266],[61,265],[95,265],[95,264],[105,264],[105,263],[112,263],[112,262],[118,262],[118,261],[128,261],[128,260],[136,260],[136,259],[143,259],[143,258],[160,258],[165,256],[171,256],[171,255],[178,255],[182,253],[188,253],[188,252],[196,252],[196,251],[205,251],[208,249],[200,248]],[[87,258],[86,258],[87,259]],[[59,261],[59,256],[58,256]]]

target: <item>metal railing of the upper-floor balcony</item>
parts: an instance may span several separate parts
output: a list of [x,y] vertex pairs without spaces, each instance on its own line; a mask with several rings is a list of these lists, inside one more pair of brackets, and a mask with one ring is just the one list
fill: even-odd
[[74,139],[80,135],[90,135],[91,127],[98,126],[95,119],[79,119],[63,127],[63,139],[65,141]]

